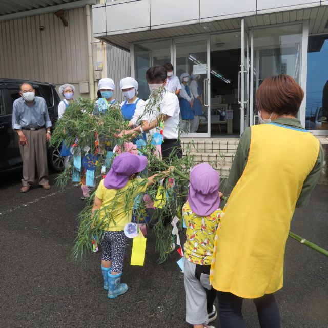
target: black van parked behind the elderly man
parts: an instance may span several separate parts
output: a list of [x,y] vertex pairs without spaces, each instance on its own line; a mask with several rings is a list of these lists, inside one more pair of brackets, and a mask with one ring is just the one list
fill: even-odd
[[[17,169],[23,165],[19,153],[18,135],[12,129],[12,104],[20,97],[20,84],[25,80],[0,79],[0,173]],[[35,95],[46,100],[52,128],[58,119],[59,96],[50,83],[27,81],[35,89]],[[64,168],[60,149],[48,147],[48,167],[53,171]]]

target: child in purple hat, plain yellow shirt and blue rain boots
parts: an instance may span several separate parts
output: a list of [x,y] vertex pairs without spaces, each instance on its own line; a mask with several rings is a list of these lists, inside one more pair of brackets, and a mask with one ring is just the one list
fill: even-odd
[[109,298],[116,298],[128,290],[126,283],[120,283],[127,238],[123,230],[131,222],[134,199],[144,193],[158,175],[165,177],[173,169],[170,167],[148,179],[136,179],[137,173],[145,170],[147,163],[145,156],[118,155],[105,179],[99,183],[94,197],[92,213],[100,210],[97,219],[104,227],[100,241],[103,249],[101,270]]

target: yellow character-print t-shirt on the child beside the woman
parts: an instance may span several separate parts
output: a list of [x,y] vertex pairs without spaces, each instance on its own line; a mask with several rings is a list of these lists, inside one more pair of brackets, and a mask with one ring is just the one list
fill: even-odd
[[195,264],[211,265],[221,209],[215,210],[209,216],[198,216],[192,211],[187,201],[182,208],[182,213],[187,226],[186,260]]

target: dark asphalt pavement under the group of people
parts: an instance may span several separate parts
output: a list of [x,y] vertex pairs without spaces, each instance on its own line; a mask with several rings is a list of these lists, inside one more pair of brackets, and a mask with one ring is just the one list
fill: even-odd
[[[51,190],[26,194],[19,192],[20,172],[0,178],[0,328],[187,327],[180,257],[173,252],[158,265],[154,235],[147,238],[144,267],[130,265],[128,243],[122,281],[129,290],[117,299],[103,290],[100,253],[70,261],[85,202],[79,186],[61,192],[55,177]],[[328,186],[316,186],[291,230],[328,249]],[[328,258],[289,238],[284,287],[276,297],[282,327],[327,328]],[[247,327],[259,327],[251,300],[244,301],[243,315]],[[218,321],[213,325],[220,327]]]

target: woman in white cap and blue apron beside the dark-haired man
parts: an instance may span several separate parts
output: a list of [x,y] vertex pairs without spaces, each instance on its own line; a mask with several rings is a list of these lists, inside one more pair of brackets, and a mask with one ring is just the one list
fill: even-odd
[[135,128],[145,110],[145,101],[137,97],[138,83],[132,77],[125,77],[120,80],[119,88],[127,98],[121,104],[123,117],[125,120],[129,120],[130,127]]

